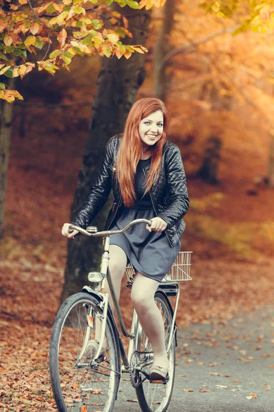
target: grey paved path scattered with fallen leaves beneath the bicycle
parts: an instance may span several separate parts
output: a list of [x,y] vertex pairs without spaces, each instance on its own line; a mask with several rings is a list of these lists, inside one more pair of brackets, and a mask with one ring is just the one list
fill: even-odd
[[[178,338],[169,412],[274,412],[274,305],[225,324],[190,325]],[[140,411],[127,402],[134,398],[124,380],[114,412]]]

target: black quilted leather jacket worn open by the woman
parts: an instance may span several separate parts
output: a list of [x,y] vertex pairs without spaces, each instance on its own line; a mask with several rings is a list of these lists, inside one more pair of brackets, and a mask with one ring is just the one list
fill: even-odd
[[[73,220],[73,224],[86,229],[107,201],[111,190],[114,194],[114,203],[108,214],[105,229],[109,229],[114,222],[122,204],[121,190],[116,181],[116,157],[120,144],[121,137],[118,136],[108,141],[95,185],[92,186],[86,203]],[[145,174],[148,173],[149,167],[144,168]],[[182,218],[188,211],[189,198],[181,153],[170,141],[164,145],[160,176],[158,181],[153,183],[149,193],[155,216],[167,223],[166,236],[171,246],[175,246],[186,227]]]

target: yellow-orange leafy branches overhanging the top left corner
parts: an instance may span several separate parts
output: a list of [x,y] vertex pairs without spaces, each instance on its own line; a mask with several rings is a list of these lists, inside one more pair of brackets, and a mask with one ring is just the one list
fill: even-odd
[[[0,20],[0,33],[4,33],[4,47],[1,49],[0,58],[1,62],[6,62],[5,67],[1,67],[2,73],[6,73],[5,76],[10,78],[12,76],[22,78],[32,71],[32,65],[14,67],[14,57],[27,60],[27,55],[36,54],[36,49],[42,49],[45,42],[51,45],[51,36],[56,34],[58,48],[49,51],[48,60],[36,62],[38,70],[45,69],[52,75],[61,65],[69,70],[75,54],[130,58],[134,52],[141,54],[147,52],[142,45],[125,46],[121,43],[120,38],[132,37],[128,30],[127,18],[121,12],[108,10],[101,1],[98,1],[96,12],[87,10],[83,7],[87,1],[46,1],[34,8],[35,14],[28,8],[21,8],[27,4],[27,0],[18,0],[16,5],[8,1],[9,11],[2,10]],[[153,3],[153,0],[150,1]],[[162,0],[157,0],[155,3],[159,1]],[[139,8],[136,0],[125,0],[125,2],[131,8]],[[96,0],[92,3],[96,3]],[[100,10],[103,10],[103,17]],[[104,26],[105,21],[108,21],[108,29]],[[67,27],[73,27],[72,36],[69,38]],[[0,98],[8,96],[8,99],[11,99],[7,93],[8,91],[2,89]]]

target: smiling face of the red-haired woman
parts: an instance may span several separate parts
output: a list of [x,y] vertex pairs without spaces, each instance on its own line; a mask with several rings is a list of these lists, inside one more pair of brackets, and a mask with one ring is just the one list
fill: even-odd
[[164,130],[164,116],[158,110],[144,117],[139,124],[139,135],[142,140],[142,148],[149,150],[162,137]]

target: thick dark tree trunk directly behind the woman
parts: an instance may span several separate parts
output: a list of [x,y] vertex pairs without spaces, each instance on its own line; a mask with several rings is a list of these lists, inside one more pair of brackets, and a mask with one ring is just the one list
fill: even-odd
[[[119,9],[121,12],[121,8]],[[129,20],[129,30],[133,38],[130,44],[145,45],[150,21],[147,10],[123,8]],[[92,119],[82,170],[79,173],[75,198],[71,209],[71,218],[82,208],[88,196],[90,186],[103,160],[105,145],[110,137],[123,132],[123,125],[129,109],[136,98],[138,88],[145,79],[145,58],[143,54],[134,53],[129,60],[121,58],[103,58],[97,84],[97,93],[92,107]],[[110,202],[95,218],[93,225],[103,229]],[[66,262],[65,283],[61,301],[77,292],[87,282],[90,270],[97,270],[101,258],[101,242],[98,238],[77,236],[68,241],[68,258]]]

